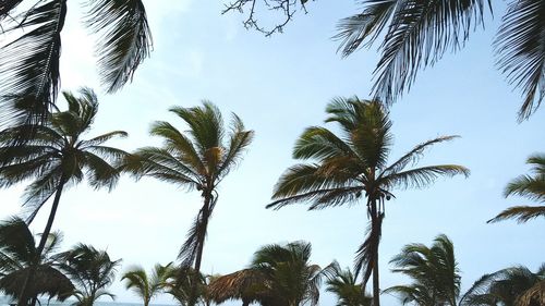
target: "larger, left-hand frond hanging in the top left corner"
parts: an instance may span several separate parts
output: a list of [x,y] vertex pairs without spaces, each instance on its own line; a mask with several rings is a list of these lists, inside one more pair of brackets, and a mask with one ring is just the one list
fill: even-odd
[[[49,0],[33,7],[7,30],[27,29],[0,49],[0,122],[5,125],[43,125],[59,89],[60,33],[66,1]],[[32,130],[19,135],[28,139]]]

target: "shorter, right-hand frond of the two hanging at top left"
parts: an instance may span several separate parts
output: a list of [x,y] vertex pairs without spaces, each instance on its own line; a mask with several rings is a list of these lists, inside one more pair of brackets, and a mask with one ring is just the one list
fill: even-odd
[[96,52],[101,82],[113,93],[134,75],[152,50],[152,33],[141,0],[88,1],[86,24],[100,35]]

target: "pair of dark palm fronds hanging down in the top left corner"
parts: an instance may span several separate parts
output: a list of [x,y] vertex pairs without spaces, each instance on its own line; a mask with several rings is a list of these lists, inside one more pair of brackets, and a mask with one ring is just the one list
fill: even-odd
[[[152,35],[142,0],[89,0],[83,23],[96,34],[98,70],[108,93],[131,81],[149,56]],[[60,87],[61,32],[66,0],[7,0],[0,4],[0,122],[47,123]],[[5,124],[5,126],[4,126]],[[31,130],[34,131],[34,130]],[[15,130],[27,140],[29,130]]]

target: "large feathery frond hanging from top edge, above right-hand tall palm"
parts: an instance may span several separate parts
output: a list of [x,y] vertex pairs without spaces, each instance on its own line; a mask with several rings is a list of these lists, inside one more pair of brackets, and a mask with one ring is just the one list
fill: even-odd
[[[367,1],[360,20],[375,24],[384,23],[380,15],[372,15],[373,7],[384,2],[385,11],[391,15],[385,34],[382,58],[374,71],[376,82],[373,95],[390,105],[410,88],[421,68],[433,65],[448,50],[456,51],[468,39],[473,27],[484,22],[485,7],[489,0],[462,1]],[[393,12],[392,5],[396,5]],[[370,10],[370,11],[365,11]],[[368,14],[368,15],[365,15]],[[371,23],[373,24],[373,23]],[[365,28],[365,27],[364,27]],[[378,27],[382,29],[384,26]],[[348,33],[347,33],[348,30]],[[344,37],[359,37],[361,27],[344,29]],[[353,34],[352,34],[353,33]],[[377,35],[375,33],[374,35]],[[361,35],[360,35],[361,36]],[[344,47],[351,52],[356,50],[363,39],[353,39],[353,45]]]

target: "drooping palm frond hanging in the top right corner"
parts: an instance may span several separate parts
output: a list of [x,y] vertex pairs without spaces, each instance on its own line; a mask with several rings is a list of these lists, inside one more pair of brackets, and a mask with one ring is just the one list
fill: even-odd
[[545,3],[511,1],[494,41],[497,66],[524,98],[519,120],[528,119],[545,97]]

